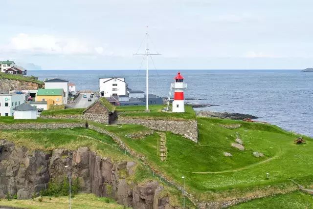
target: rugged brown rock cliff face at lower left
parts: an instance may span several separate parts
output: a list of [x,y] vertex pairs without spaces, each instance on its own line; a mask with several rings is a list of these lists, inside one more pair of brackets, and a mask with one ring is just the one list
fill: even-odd
[[[134,209],[173,209],[168,197],[158,197],[163,188],[157,181],[129,185],[124,174],[133,175],[135,162],[112,162],[87,147],[77,150],[54,149],[28,152],[25,147],[0,140],[0,198],[7,193],[29,199],[47,188],[51,179],[62,181],[68,175],[79,178],[83,192],[111,197]],[[120,174],[123,175],[120,175]]]

